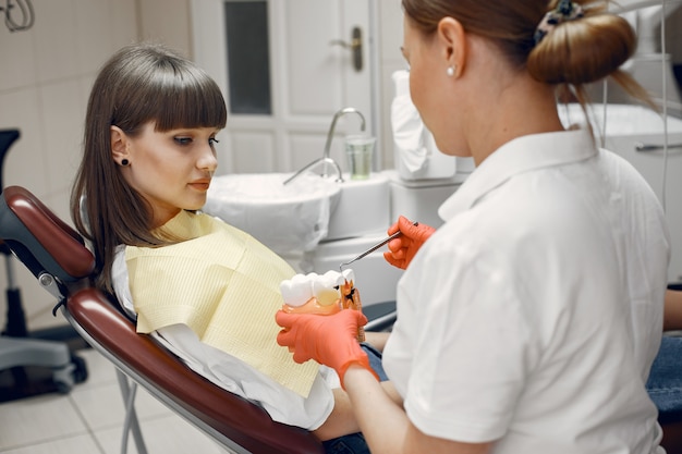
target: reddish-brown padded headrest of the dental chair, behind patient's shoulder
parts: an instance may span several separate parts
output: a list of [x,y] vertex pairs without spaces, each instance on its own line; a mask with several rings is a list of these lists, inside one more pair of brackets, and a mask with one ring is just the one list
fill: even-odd
[[36,278],[47,272],[70,283],[95,270],[81,235],[21,186],[0,197],[0,238]]

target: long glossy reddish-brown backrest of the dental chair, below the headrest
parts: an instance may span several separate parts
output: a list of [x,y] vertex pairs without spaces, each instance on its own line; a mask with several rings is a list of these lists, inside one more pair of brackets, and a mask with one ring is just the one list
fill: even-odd
[[215,385],[151,338],[137,334],[133,322],[98,290],[75,292],[66,303],[65,316],[101,346],[100,353],[113,355],[117,367],[157,398],[171,401],[251,452],[324,453],[313,433],[272,421],[263,408]]

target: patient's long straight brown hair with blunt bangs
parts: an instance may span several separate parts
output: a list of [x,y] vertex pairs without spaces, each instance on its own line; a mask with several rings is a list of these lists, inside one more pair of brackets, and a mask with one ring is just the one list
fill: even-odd
[[166,243],[150,233],[151,209],[111,155],[112,125],[135,136],[150,121],[156,131],[222,128],[227,108],[215,81],[187,59],[161,45],[130,45],[105,63],[90,91],[83,160],[71,193],[71,216],[92,242],[100,271],[96,284],[110,293],[118,245]]

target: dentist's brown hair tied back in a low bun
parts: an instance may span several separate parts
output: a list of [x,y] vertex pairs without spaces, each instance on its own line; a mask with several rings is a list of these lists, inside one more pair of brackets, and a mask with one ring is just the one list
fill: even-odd
[[[562,22],[537,45],[534,35],[558,0],[402,0],[405,14],[424,34],[442,17],[456,19],[468,33],[490,39],[508,62],[537,81],[572,89],[587,102],[584,85],[611,76],[630,95],[650,103],[645,90],[619,68],[634,53],[636,36],[624,19],[606,12],[608,0],[590,2],[580,19]],[[586,3],[574,0],[573,3]]]

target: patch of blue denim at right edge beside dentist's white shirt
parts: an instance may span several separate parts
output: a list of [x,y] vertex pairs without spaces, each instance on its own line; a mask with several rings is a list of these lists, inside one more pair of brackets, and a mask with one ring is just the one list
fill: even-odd
[[682,338],[663,336],[646,389],[661,422],[682,420]]

